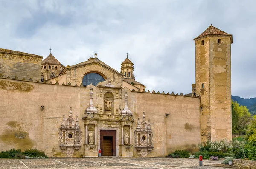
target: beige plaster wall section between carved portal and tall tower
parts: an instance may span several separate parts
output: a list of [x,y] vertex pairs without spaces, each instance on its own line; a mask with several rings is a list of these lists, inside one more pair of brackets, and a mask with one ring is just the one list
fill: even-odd
[[[197,149],[200,137],[200,98],[132,92],[136,96],[134,119],[150,118],[154,149],[148,156],[166,156],[175,149]],[[165,117],[166,114],[170,114]],[[135,125],[136,126],[136,125]],[[136,152],[134,152],[136,154]]]

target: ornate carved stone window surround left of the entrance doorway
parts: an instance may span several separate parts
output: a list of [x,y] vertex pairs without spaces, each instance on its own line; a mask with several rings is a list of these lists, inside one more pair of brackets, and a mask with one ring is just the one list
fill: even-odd
[[58,144],[61,147],[61,151],[72,157],[81,147],[81,130],[79,126],[78,115],[76,115],[76,121],[72,117],[72,108],[70,107],[69,118],[65,118],[61,123],[60,131],[58,132]]

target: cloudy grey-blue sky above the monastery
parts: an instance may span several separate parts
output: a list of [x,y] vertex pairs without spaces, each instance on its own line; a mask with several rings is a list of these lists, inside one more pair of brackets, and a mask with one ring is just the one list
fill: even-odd
[[256,97],[255,0],[0,0],[0,48],[52,54],[63,65],[94,53],[120,71],[128,52],[147,90],[191,93],[195,42],[212,23],[233,34],[232,94]]

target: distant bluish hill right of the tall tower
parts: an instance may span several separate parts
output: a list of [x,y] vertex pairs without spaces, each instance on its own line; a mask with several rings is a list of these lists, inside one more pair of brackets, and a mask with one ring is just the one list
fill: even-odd
[[231,98],[240,105],[246,106],[251,114],[256,115],[256,97],[248,99],[239,96],[231,96]]

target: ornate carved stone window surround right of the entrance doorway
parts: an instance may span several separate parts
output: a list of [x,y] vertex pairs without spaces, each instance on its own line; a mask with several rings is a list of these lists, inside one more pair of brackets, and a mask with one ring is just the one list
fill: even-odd
[[145,158],[154,148],[153,132],[150,125],[150,120],[148,119],[148,123],[145,121],[145,112],[143,112],[143,119],[141,123],[140,118],[138,118],[138,123],[134,134],[135,149],[143,158]]

